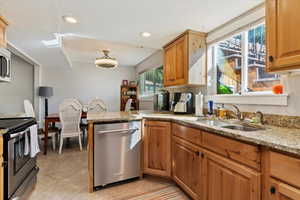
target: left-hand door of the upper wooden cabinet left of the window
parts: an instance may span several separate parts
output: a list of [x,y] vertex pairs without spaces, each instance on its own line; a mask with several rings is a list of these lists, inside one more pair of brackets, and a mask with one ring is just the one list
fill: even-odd
[[173,45],[165,50],[164,85],[174,84],[176,79],[176,46]]

